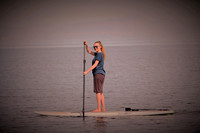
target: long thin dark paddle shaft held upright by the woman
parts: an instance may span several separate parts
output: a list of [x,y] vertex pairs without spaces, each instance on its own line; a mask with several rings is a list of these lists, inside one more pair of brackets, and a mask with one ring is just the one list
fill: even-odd
[[[85,72],[85,44],[83,49],[83,72]],[[85,117],[85,75],[83,75],[83,117]]]

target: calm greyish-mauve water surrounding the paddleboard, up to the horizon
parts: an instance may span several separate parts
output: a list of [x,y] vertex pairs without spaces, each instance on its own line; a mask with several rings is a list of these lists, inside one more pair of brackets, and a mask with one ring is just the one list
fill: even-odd
[[[106,47],[106,109],[167,108],[167,116],[42,117],[36,110],[82,110],[82,48],[0,49],[0,132],[200,131],[200,46]],[[86,55],[86,68],[92,57]],[[86,110],[96,108],[92,74]]]

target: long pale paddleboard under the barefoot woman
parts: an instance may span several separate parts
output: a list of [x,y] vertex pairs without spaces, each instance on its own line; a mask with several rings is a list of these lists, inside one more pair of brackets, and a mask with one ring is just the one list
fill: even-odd
[[[55,111],[35,111],[42,116],[68,116],[82,117],[82,112],[55,112]],[[118,116],[151,116],[174,114],[173,110],[135,110],[135,111],[106,111],[106,112],[85,112],[85,116],[91,117],[118,117]]]

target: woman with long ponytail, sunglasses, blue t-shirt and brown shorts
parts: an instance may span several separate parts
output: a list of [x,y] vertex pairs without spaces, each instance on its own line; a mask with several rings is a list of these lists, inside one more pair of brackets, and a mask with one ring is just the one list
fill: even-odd
[[[86,45],[87,52],[94,56],[92,60],[92,66],[83,73],[86,75],[88,72],[92,70],[93,77],[94,77],[94,93],[97,96],[97,109],[93,110],[92,112],[105,112],[105,104],[104,104],[104,95],[103,95],[103,83],[105,79],[105,70],[104,66],[104,59],[106,58],[104,47],[101,41],[96,41],[94,43],[94,50],[96,52],[92,52],[86,41],[84,41]],[[102,105],[102,107],[101,107]]]

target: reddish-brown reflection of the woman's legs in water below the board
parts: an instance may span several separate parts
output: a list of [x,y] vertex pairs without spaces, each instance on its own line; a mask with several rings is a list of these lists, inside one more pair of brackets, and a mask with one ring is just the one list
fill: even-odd
[[98,133],[106,133],[106,122],[103,117],[97,117],[95,127]]

